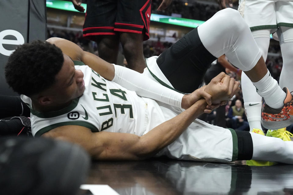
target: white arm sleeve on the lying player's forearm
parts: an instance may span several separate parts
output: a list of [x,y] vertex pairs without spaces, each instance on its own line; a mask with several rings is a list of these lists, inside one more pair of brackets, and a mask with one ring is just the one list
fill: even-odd
[[169,89],[134,70],[114,65],[115,76],[112,81],[128,90],[135,91],[137,95],[161,101],[165,104],[181,108],[184,94]]

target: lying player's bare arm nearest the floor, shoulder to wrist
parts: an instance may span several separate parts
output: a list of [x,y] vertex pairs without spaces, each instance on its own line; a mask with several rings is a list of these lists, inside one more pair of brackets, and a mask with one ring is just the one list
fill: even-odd
[[61,126],[44,137],[67,140],[81,145],[96,160],[143,160],[171,144],[206,109],[205,100],[139,137],[129,133],[97,132],[82,126]]

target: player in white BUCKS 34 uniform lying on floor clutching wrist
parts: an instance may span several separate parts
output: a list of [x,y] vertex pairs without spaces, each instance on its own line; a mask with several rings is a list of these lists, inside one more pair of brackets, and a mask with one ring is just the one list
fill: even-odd
[[[248,75],[265,106],[280,104],[281,110],[290,111],[291,94],[269,75],[249,27],[233,9],[217,12],[159,57],[147,59],[143,74],[107,63],[70,41],[50,38],[18,47],[5,76],[31,108],[35,137],[80,144],[94,159],[167,155],[195,161],[252,158],[293,164],[293,142],[196,119],[239,90],[239,83],[224,73],[197,89],[208,65],[223,54]],[[272,93],[287,97],[272,99]]]

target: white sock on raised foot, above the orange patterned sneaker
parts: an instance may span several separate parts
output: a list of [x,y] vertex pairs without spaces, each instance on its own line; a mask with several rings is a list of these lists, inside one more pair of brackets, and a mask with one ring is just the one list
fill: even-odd
[[265,102],[271,108],[281,108],[284,106],[286,93],[278,85],[278,82],[273,79],[268,72],[258,82],[252,82],[257,89],[257,93],[265,99]]

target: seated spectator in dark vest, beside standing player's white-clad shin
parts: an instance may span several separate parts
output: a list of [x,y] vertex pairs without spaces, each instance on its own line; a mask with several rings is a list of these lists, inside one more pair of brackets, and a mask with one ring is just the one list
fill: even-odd
[[230,118],[230,128],[239,131],[249,131],[249,124],[245,116],[245,110],[242,107],[242,102],[240,100],[236,100],[235,105],[230,108],[228,118]]

